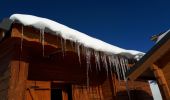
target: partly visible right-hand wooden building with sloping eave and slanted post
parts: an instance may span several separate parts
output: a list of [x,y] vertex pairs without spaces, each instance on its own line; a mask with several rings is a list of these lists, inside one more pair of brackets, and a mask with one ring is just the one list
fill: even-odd
[[[165,35],[165,33],[164,33]],[[154,37],[155,38],[155,37]],[[156,40],[158,36],[156,37]],[[154,39],[155,40],[155,39]],[[127,73],[130,80],[156,80],[163,100],[170,100],[170,32]]]

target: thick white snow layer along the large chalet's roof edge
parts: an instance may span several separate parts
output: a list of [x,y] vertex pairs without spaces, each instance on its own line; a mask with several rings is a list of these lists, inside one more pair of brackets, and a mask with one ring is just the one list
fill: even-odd
[[112,54],[119,54],[119,53],[128,53],[132,55],[138,55],[143,54],[142,52],[135,51],[135,50],[126,50],[119,48],[117,46],[108,44],[106,42],[103,42],[99,39],[90,37],[82,32],[79,32],[77,30],[74,30],[72,28],[69,28],[65,25],[62,25],[60,23],[57,23],[55,21],[41,18],[33,15],[25,15],[25,14],[13,14],[10,17],[13,21],[19,21],[24,26],[33,26],[37,29],[45,29],[49,28],[50,30],[56,32],[51,33],[54,35],[60,35],[64,39],[68,39],[74,42],[78,42],[81,45],[84,45],[85,47],[95,49],[97,51],[112,53]]

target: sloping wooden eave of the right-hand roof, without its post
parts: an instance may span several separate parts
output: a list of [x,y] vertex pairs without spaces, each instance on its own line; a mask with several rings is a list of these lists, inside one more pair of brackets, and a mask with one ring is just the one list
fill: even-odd
[[132,69],[126,73],[130,80],[155,80],[150,66],[165,67],[170,62],[170,32],[152,47]]

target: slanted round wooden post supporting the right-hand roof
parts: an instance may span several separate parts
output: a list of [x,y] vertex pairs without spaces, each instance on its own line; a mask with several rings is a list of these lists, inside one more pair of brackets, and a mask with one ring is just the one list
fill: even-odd
[[161,91],[161,95],[163,100],[170,100],[170,90],[168,88],[168,84],[166,82],[164,73],[162,70],[155,64],[151,65],[151,70],[154,72],[154,75],[157,79],[159,89]]

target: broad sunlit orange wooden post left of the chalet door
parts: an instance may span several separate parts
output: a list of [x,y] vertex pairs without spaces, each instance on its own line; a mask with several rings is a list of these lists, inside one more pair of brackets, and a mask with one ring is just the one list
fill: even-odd
[[11,61],[11,75],[8,91],[8,100],[24,100],[28,63],[24,61]]

